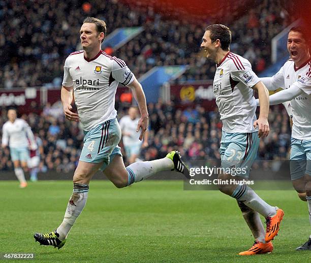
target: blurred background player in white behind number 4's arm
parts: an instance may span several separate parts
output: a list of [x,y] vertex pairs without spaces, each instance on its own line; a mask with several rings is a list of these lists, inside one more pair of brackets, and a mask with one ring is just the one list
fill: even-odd
[[123,116],[120,119],[122,141],[130,164],[135,162],[139,156],[141,147],[148,146],[148,130],[144,133],[143,141],[139,140],[139,134],[136,133],[139,121],[137,111],[136,107],[130,107],[129,115]]

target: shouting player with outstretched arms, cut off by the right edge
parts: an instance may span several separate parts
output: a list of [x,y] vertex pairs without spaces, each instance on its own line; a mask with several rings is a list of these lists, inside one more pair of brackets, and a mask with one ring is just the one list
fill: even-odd
[[[270,105],[290,101],[293,114],[291,179],[299,198],[307,201],[311,224],[311,56],[306,32],[300,26],[290,29],[287,40],[290,59],[274,76],[261,81],[269,90],[284,88],[269,96]],[[296,250],[311,250],[311,235]]]

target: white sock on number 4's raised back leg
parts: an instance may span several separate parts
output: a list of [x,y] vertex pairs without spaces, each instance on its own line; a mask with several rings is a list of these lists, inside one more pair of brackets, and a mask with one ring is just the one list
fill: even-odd
[[143,179],[160,171],[174,169],[174,162],[167,157],[152,161],[137,161],[127,167],[129,174],[128,185],[140,182]]

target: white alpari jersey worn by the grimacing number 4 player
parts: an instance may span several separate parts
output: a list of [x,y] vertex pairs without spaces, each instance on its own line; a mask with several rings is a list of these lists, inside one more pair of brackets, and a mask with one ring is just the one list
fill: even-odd
[[90,60],[83,50],[71,53],[65,61],[63,86],[74,87],[82,128],[87,131],[116,117],[116,88],[119,83],[131,84],[134,78],[123,60],[102,50]]

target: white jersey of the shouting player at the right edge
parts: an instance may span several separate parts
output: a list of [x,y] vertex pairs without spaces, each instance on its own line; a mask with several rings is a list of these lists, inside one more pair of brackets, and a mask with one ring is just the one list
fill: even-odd
[[289,59],[271,78],[263,78],[263,83],[271,87],[289,88],[292,84],[304,93],[291,101],[293,109],[292,137],[298,140],[311,140],[311,59],[299,68]]

